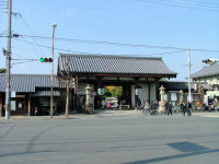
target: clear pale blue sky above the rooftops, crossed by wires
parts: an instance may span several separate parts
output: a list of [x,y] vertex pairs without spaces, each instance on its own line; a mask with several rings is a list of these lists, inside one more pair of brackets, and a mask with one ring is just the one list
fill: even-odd
[[[0,48],[7,48],[5,3],[0,0]],[[192,73],[204,59],[219,59],[218,0],[12,0],[12,34],[20,36],[11,43],[11,73],[51,73],[39,58],[51,57],[53,23],[55,73],[64,52],[162,57],[177,72],[174,81],[186,81],[188,46]]]

